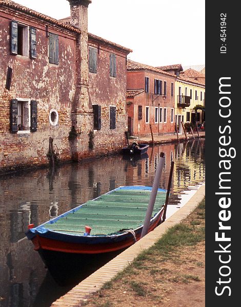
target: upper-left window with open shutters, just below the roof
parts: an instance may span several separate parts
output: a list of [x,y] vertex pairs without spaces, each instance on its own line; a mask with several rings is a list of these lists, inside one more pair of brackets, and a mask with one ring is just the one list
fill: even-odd
[[[11,54],[29,55],[29,27],[11,21]],[[30,56],[36,58],[36,29],[30,28]]]

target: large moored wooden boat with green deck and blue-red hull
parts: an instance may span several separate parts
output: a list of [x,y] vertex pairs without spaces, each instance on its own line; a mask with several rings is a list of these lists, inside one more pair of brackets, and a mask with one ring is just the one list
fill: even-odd
[[[64,269],[64,259],[68,265],[86,267],[89,256],[95,256],[95,264],[101,264],[103,255],[118,254],[140,238],[151,189],[116,188],[42,225],[29,225],[26,235],[52,275]],[[162,222],[166,194],[158,189],[148,232]]]

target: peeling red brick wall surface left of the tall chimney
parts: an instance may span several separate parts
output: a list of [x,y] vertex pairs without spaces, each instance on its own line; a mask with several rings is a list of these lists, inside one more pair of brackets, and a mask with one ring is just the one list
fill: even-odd
[[[10,54],[10,21],[14,19],[36,28],[37,58]],[[1,9],[0,17],[0,170],[48,164],[49,138],[59,160],[70,160],[68,136],[75,93],[76,36],[65,29],[48,25],[59,38],[59,64],[50,64],[48,37],[44,21],[11,9]],[[12,68],[10,91],[5,88],[8,67]],[[37,100],[37,131],[28,134],[10,132],[11,99]],[[49,121],[51,109],[58,112],[58,123]]]

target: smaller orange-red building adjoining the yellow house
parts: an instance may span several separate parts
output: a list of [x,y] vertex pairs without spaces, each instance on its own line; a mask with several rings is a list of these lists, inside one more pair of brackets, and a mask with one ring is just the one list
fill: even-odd
[[174,134],[175,76],[127,61],[128,131],[131,135]]

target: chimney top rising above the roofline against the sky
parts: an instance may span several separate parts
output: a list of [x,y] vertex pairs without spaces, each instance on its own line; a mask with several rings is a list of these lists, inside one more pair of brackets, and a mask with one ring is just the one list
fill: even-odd
[[70,3],[71,26],[88,33],[88,6],[92,0],[67,0]]

